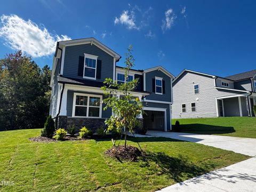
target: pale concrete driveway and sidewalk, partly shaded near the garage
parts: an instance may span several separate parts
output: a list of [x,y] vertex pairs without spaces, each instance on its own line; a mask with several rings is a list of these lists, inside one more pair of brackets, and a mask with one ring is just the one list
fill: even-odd
[[196,142],[252,156],[245,161],[176,183],[159,191],[256,191],[256,139],[159,131],[148,131],[147,134],[148,137],[167,137]]

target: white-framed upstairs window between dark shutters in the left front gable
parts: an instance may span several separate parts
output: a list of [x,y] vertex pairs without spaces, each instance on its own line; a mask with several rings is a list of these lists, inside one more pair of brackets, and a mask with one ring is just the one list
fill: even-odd
[[96,79],[98,56],[84,53],[83,78]]

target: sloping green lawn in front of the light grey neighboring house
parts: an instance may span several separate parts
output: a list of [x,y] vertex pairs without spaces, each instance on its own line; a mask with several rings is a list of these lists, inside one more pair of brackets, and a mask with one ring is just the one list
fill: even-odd
[[256,117],[218,117],[179,120],[181,132],[256,138]]

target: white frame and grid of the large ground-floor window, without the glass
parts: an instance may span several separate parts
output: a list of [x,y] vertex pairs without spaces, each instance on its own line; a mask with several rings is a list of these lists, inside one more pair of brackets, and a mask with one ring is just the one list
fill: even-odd
[[[77,95],[81,95],[81,96],[85,96],[87,97],[87,111],[86,111],[86,115],[87,116],[75,116],[75,108],[76,108],[76,96]],[[100,106],[89,106],[90,103],[90,97],[97,97],[100,98]],[[99,112],[99,117],[89,117],[89,108],[90,107],[97,107],[100,108],[100,112]],[[94,94],[86,94],[86,93],[74,93],[73,94],[73,107],[72,107],[72,117],[84,117],[84,118],[102,118],[102,95],[94,95]]]

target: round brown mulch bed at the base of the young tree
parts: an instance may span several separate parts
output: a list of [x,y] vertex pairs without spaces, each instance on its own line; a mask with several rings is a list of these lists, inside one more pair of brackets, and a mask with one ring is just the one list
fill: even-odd
[[123,145],[114,146],[106,150],[105,153],[110,157],[116,157],[118,160],[130,162],[136,161],[138,157],[143,155],[137,147],[130,145],[127,145],[126,148]]

